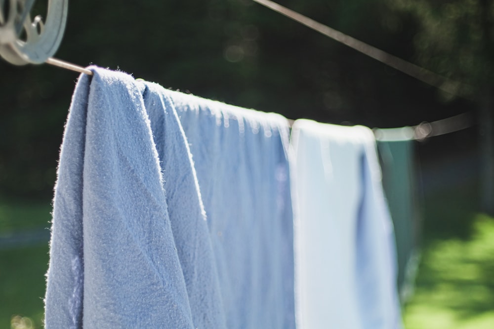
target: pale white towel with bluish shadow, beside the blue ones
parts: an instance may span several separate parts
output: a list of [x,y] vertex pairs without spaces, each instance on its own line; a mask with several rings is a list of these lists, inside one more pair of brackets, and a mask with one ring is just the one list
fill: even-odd
[[291,147],[297,328],[401,328],[371,130],[296,120]]

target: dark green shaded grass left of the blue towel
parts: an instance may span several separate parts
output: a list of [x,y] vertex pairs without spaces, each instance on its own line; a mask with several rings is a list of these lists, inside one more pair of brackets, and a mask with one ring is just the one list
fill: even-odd
[[[50,226],[50,201],[0,200],[0,237]],[[0,328],[42,328],[48,243],[0,249]]]

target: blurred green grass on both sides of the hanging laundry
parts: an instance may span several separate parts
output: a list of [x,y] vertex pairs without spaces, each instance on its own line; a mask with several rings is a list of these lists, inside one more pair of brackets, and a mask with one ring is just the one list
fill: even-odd
[[[475,185],[424,199],[422,257],[406,329],[494,328],[494,219]],[[51,205],[0,201],[0,235],[49,226]],[[0,329],[42,328],[48,246],[0,250]]]

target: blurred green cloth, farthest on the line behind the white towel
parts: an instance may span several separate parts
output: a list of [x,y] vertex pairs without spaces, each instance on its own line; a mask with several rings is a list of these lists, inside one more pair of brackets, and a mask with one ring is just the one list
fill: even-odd
[[413,294],[419,260],[421,212],[418,167],[411,127],[375,130],[382,183],[396,234],[398,291],[404,304]]

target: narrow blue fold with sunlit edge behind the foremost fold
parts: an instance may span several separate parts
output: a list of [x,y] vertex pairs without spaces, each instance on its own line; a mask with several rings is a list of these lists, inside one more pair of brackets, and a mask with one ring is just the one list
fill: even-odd
[[167,91],[158,84],[146,85],[144,104],[165,177],[168,214],[194,328],[226,328],[216,262],[191,153]]

